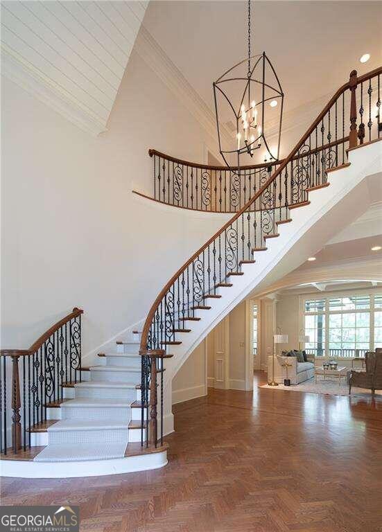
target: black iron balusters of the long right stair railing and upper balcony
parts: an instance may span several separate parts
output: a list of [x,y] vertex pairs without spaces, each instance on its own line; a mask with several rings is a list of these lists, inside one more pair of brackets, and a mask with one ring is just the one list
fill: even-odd
[[[269,166],[231,170],[203,167],[150,150],[154,156],[157,199],[200,208],[207,190],[203,192],[205,170],[209,175],[208,197],[212,200],[208,209],[206,206],[202,210],[222,210],[226,198],[220,193],[222,175],[229,209],[237,210],[166,283],[148,313],[141,337],[141,400],[142,418],[143,410],[150,409],[146,441],[151,445],[157,445],[157,373],[163,369],[163,358],[170,356],[166,355],[168,348],[180,343],[177,333],[186,332],[193,321],[201,319],[199,311],[208,310],[209,301],[220,298],[220,287],[229,287],[234,276],[243,275],[241,265],[254,263],[257,253],[266,251],[267,240],[278,236],[279,224],[290,221],[293,209],[309,204],[310,190],[328,185],[328,170],[346,164],[347,150],[364,142],[366,118],[368,140],[380,138],[381,73],[379,68],[358,78],[356,71],[352,71],[349,81],[329,100],[289,156]],[[215,172],[214,179],[212,172]],[[234,194],[227,182],[235,183]],[[236,199],[232,203],[233,197],[238,197],[237,203]],[[213,209],[211,205],[218,207]],[[163,393],[163,371],[161,378]],[[159,423],[163,427],[163,405]]]

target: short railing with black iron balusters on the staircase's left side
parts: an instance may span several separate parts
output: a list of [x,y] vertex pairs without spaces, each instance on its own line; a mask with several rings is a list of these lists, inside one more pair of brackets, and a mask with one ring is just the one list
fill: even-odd
[[[46,331],[28,350],[0,351],[0,449],[4,454],[8,449],[8,420],[12,421],[12,451],[26,450],[31,446],[29,429],[46,420],[49,403],[60,399],[59,388],[71,380],[73,368],[74,371],[80,370],[82,313],[83,310],[74,308],[69,316]],[[69,366],[64,361],[68,323],[71,323],[70,334],[76,352],[72,357],[72,361],[76,362],[69,363]],[[7,396],[7,368],[10,370],[10,366],[12,387],[10,396]]]

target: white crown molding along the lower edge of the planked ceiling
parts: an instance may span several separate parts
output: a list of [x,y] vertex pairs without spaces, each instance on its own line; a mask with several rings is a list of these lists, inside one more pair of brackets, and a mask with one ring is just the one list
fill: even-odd
[[4,43],[1,43],[1,74],[81,130],[93,136],[107,131],[103,118],[80,105],[67,91]]

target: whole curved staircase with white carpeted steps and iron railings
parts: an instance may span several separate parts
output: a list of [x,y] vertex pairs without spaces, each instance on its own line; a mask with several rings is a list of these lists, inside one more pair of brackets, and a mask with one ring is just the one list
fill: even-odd
[[[107,475],[166,463],[171,381],[189,354],[255,287],[295,269],[367,209],[368,181],[382,177],[381,73],[351,73],[290,155],[166,283],[142,332],[135,332],[139,341],[116,342],[112,353],[85,368],[83,311],[74,309],[28,350],[1,351],[3,475]],[[357,132],[356,89],[362,98],[363,85],[376,80],[378,116],[369,117],[365,143],[365,127]]]

